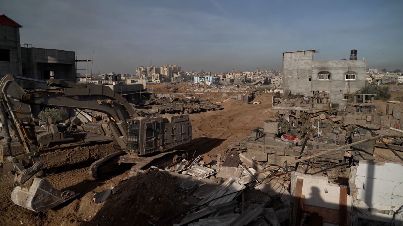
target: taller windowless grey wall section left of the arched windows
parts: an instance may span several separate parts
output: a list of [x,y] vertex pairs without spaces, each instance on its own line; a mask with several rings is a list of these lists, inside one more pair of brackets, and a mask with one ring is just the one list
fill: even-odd
[[311,95],[314,51],[283,53],[283,88],[293,94]]

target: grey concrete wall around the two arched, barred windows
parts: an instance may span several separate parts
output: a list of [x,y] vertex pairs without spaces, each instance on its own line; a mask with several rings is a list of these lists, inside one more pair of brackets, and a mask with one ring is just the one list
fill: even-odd
[[[330,101],[341,108],[347,103],[344,94],[352,94],[365,86],[366,60],[327,60],[312,62],[312,91],[326,91]],[[330,72],[330,80],[318,80],[318,73]],[[345,80],[345,74],[355,74],[355,80]]]

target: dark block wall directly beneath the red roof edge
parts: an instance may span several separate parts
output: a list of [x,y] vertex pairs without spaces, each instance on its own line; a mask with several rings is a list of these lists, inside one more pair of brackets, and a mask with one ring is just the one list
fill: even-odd
[[22,74],[20,32],[18,27],[0,25],[0,48],[11,49],[10,62],[0,62],[0,76]]

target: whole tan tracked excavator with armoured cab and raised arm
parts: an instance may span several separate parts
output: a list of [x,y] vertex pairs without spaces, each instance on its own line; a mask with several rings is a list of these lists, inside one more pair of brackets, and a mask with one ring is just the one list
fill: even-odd
[[[39,82],[49,88],[23,89],[18,80]],[[52,87],[52,88],[50,88]],[[24,208],[43,212],[76,196],[74,191],[59,191],[46,179],[41,170],[38,141],[31,105],[75,107],[105,113],[112,131],[116,152],[93,162],[89,174],[95,178],[108,177],[129,163],[130,174],[155,166],[166,166],[186,158],[186,151],[172,150],[192,140],[188,115],[140,117],[129,102],[104,85],[84,85],[63,80],[37,80],[5,75],[0,80],[0,113],[8,156],[4,171],[14,174],[11,200]],[[12,153],[10,128],[25,148],[25,153]],[[128,165],[128,164],[126,164]]]

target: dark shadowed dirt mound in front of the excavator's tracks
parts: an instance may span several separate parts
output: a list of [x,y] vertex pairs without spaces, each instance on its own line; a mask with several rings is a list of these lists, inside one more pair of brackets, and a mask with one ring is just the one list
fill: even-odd
[[[186,209],[179,185],[179,181],[167,173],[147,170],[120,183],[116,187],[117,193],[106,201],[90,222],[83,225],[159,223]],[[160,225],[172,225],[180,220],[173,218]]]

